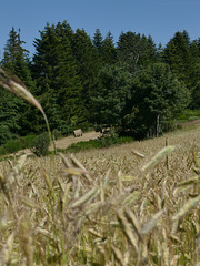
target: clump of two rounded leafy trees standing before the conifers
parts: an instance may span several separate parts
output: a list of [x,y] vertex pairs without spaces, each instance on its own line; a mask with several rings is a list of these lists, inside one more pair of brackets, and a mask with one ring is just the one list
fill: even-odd
[[137,139],[148,132],[156,135],[157,126],[159,133],[167,130],[168,122],[190,101],[190,92],[164,63],[153,63],[134,75],[118,65],[107,65],[100,79],[102,88],[92,99],[94,121]]

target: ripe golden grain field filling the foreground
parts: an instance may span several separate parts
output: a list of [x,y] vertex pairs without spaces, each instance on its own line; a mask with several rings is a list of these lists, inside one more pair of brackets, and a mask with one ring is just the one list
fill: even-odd
[[200,265],[200,125],[1,162],[0,265]]

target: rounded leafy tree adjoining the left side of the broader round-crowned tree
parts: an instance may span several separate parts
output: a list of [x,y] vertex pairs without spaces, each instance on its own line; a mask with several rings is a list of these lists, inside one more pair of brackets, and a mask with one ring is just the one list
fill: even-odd
[[122,131],[123,112],[131,92],[131,76],[117,64],[103,66],[99,73],[101,86],[92,98],[93,122]]

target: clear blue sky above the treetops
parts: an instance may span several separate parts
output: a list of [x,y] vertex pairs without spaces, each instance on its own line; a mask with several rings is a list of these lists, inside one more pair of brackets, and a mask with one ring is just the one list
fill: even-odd
[[187,30],[191,40],[200,38],[200,0],[0,0],[0,58],[12,27],[21,29],[23,48],[34,53],[33,40],[47,22],[67,20],[93,37],[111,31],[150,34],[166,45],[177,31]]

